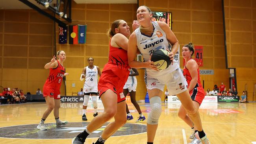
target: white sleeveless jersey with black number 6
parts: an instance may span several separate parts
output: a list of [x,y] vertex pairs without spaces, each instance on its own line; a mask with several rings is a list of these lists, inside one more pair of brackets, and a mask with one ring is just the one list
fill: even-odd
[[86,66],[84,87],[98,87],[98,70],[96,66],[93,69]]

